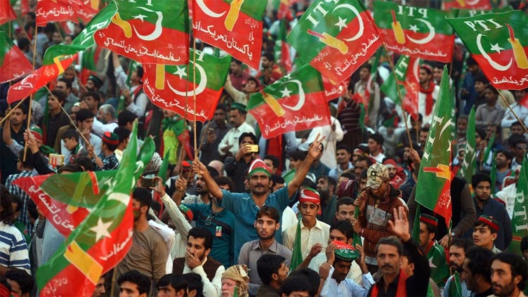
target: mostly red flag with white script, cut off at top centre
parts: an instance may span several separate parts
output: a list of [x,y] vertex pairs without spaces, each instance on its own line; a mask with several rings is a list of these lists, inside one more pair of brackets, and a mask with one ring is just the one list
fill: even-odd
[[263,0],[193,0],[192,32],[258,70],[267,4]]

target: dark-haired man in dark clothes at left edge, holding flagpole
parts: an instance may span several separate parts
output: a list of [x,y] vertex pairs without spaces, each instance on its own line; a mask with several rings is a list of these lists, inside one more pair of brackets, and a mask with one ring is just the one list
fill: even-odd
[[[13,105],[14,107],[14,105]],[[20,145],[24,145],[24,131],[27,125],[27,106],[22,103],[11,112],[6,123],[0,128],[0,134],[4,136],[4,130],[10,129],[11,139]],[[0,175],[1,183],[6,184],[8,176],[17,173],[18,155],[13,154],[8,147],[4,137],[0,138]]]

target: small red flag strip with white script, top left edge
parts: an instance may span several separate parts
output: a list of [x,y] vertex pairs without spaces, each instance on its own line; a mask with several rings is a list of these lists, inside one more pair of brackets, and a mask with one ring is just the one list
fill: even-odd
[[79,22],[77,11],[80,0],[39,0],[35,10],[35,23],[44,27],[48,22]]

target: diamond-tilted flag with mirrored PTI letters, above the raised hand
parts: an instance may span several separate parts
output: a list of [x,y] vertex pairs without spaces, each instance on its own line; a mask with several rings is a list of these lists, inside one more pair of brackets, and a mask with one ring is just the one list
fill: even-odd
[[287,37],[299,57],[334,83],[350,77],[381,46],[362,1],[316,1]]

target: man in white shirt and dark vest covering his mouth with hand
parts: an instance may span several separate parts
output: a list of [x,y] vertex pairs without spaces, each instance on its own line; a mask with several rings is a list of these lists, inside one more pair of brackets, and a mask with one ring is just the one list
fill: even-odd
[[204,296],[220,296],[224,266],[211,258],[213,235],[202,227],[194,227],[187,235],[185,257],[176,258],[173,262],[173,273],[197,273],[202,277]]

